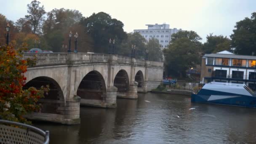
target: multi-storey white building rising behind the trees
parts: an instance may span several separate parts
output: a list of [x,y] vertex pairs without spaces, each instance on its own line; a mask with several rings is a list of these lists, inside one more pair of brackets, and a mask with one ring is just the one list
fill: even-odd
[[135,29],[133,32],[139,32],[146,40],[149,41],[149,38],[156,38],[159,40],[161,48],[168,48],[168,45],[171,41],[171,35],[177,33],[182,29],[170,29],[169,24],[146,24],[147,29]]

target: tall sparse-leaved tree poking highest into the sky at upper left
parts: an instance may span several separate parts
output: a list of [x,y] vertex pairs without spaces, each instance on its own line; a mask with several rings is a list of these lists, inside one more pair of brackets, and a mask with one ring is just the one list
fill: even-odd
[[26,19],[29,21],[30,26],[32,27],[32,32],[35,34],[41,33],[41,26],[44,21],[45,9],[44,6],[40,7],[40,2],[33,0],[30,4],[27,5],[27,13]]

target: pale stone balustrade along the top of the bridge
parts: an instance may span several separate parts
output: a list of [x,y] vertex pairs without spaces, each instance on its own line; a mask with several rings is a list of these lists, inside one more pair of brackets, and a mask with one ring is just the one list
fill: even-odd
[[83,64],[83,63],[112,63],[135,64],[141,66],[163,67],[162,62],[143,61],[127,56],[109,55],[101,53],[24,53],[23,59],[37,59],[36,65]]

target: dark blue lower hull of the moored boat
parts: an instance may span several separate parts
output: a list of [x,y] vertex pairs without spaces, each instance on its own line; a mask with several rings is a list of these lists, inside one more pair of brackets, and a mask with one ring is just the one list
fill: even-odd
[[256,107],[256,97],[243,95],[226,96],[192,94],[191,102],[205,104],[221,104],[238,107]]

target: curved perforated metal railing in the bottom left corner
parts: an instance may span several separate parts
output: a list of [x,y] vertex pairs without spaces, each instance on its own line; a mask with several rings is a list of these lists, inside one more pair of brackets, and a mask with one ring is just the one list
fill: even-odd
[[32,125],[0,120],[0,144],[49,144],[49,131]]

